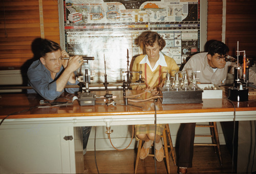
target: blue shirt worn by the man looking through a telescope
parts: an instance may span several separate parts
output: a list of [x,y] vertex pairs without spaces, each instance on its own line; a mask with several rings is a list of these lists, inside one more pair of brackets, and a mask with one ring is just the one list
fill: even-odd
[[[51,73],[46,69],[44,64],[40,60],[34,61],[28,69],[28,85],[32,86],[33,89],[27,90],[27,93],[38,93],[40,96],[44,97],[47,100],[54,100],[59,97],[64,90],[61,92],[56,91],[56,80],[63,71],[61,67],[60,71],[56,74],[55,79],[52,79]],[[68,81],[67,85],[71,85]],[[78,84],[76,81],[75,84]],[[79,88],[66,88],[68,93],[74,94],[78,92]]]

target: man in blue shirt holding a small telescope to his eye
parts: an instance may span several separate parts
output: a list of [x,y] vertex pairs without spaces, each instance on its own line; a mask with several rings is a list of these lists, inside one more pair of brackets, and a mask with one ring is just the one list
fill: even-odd
[[[75,78],[75,71],[82,65],[82,56],[70,57],[68,53],[61,51],[60,46],[51,40],[40,39],[38,60],[34,61],[28,69],[28,83],[33,89],[28,93],[38,93],[47,100],[54,100],[59,97],[66,85],[78,84]],[[69,59],[62,60],[62,57]],[[74,94],[79,88],[66,88],[68,93]],[[83,127],[83,151],[85,154],[91,126]]]

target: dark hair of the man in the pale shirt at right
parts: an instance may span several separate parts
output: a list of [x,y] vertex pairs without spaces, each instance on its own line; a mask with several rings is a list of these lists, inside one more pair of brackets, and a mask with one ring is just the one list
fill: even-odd
[[229,51],[229,48],[227,47],[226,44],[224,44],[222,41],[214,41],[210,44],[208,48],[208,54],[211,56],[214,56],[216,53],[219,55],[225,55]]

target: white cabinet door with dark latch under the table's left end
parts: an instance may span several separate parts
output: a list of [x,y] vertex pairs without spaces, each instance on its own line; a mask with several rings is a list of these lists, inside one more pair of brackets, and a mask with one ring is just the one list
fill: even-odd
[[[76,170],[80,173],[83,156],[81,145],[79,147],[79,127],[75,132],[76,136],[74,127],[66,126],[1,126],[0,173],[75,173]],[[63,139],[65,136],[72,136],[73,140]],[[79,152],[75,155],[75,141],[80,156]]]

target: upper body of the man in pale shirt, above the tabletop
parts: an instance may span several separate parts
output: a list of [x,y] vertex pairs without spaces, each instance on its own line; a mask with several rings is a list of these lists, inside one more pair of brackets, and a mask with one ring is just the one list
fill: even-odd
[[[200,83],[214,83],[216,85],[225,85],[227,74],[233,74],[233,68],[237,63],[226,62],[228,47],[221,41],[214,41],[209,47],[208,52],[198,53],[192,56],[185,64],[182,71],[191,69],[191,71],[200,71],[196,74]],[[226,52],[226,53],[225,53]],[[242,74],[240,74],[242,75]],[[255,72],[249,69],[249,82],[256,82]]]

